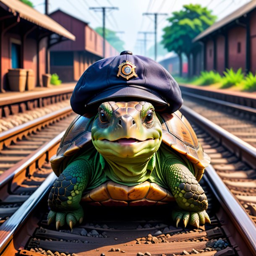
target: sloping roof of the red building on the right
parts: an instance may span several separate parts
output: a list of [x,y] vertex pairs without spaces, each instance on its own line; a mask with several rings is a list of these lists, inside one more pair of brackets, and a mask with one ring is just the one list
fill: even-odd
[[226,16],[220,21],[217,21],[212,26],[210,26],[208,29],[204,30],[202,33],[200,33],[197,37],[193,39],[193,42],[196,42],[207,35],[211,34],[212,32],[216,31],[217,29],[220,29],[221,27],[230,24],[232,21],[235,21],[236,19],[242,17],[243,15],[251,12],[253,9],[256,8],[256,0],[252,0],[249,3],[243,5],[242,7],[235,10],[230,15]]

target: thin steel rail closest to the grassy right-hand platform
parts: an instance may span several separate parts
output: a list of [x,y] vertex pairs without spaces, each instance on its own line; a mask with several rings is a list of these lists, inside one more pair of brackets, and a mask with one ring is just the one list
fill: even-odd
[[226,102],[226,101],[221,100],[221,99],[214,99],[214,98],[210,98],[210,97],[207,97],[207,96],[194,94],[194,93],[188,92],[188,91],[182,91],[182,94],[187,95],[189,97],[196,98],[196,99],[201,99],[201,100],[203,99],[205,101],[216,103],[216,104],[219,104],[219,105],[222,105],[222,106],[225,106],[225,107],[230,107],[234,110],[239,110],[239,111],[242,111],[242,112],[246,112],[246,113],[256,115],[256,109],[253,108],[253,107],[247,107],[247,106],[243,106],[243,105],[232,103],[232,102]]

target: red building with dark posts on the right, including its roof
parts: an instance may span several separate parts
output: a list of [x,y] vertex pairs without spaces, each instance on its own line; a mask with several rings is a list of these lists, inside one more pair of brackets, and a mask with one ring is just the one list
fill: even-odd
[[235,12],[216,22],[199,34],[194,43],[201,44],[201,51],[194,54],[196,67],[193,75],[201,70],[226,68],[235,71],[256,72],[256,0],[243,5]]

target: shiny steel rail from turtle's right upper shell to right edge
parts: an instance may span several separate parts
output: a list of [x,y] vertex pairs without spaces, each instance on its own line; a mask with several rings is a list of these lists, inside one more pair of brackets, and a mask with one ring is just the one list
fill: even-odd
[[195,120],[199,126],[204,128],[207,133],[210,133],[216,141],[221,143],[231,152],[233,152],[241,160],[247,162],[252,167],[256,167],[256,148],[241,140],[237,136],[229,133],[225,129],[216,125],[212,121],[204,118],[191,108],[183,106],[180,112],[185,115],[186,118]]

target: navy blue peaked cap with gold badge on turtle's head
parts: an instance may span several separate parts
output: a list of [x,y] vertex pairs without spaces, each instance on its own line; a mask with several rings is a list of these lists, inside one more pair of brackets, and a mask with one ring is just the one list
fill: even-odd
[[86,69],[71,96],[71,107],[84,115],[97,111],[102,102],[135,100],[151,102],[157,111],[168,112],[175,112],[183,103],[177,82],[165,68],[148,57],[124,51]]

